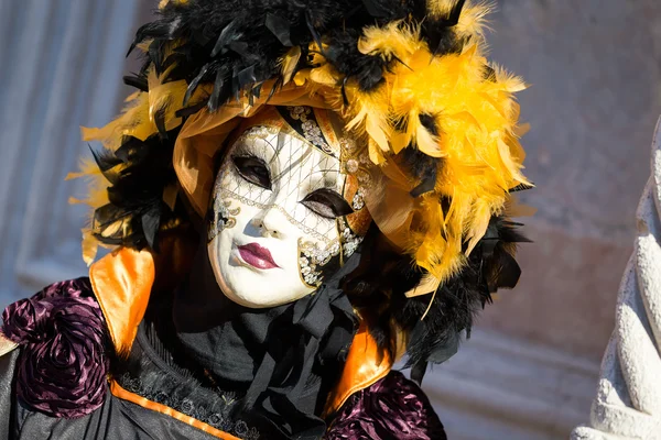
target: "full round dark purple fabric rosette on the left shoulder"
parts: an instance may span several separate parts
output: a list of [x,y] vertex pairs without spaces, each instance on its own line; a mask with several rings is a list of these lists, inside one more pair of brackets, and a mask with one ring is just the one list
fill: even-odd
[[2,312],[2,332],[22,345],[17,393],[48,416],[74,418],[106,397],[106,324],[88,278],[53,284]]

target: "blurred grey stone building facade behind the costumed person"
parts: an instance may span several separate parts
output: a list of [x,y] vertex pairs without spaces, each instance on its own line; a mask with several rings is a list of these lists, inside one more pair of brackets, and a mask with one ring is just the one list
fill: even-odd
[[[0,0],[0,305],[84,275],[64,182],[87,145],[79,125],[116,114],[132,33],[155,0]],[[661,113],[657,0],[500,0],[492,58],[520,94],[527,175],[523,277],[473,338],[425,377],[453,440],[567,438],[587,420],[636,204]],[[133,63],[133,64],[131,64]]]

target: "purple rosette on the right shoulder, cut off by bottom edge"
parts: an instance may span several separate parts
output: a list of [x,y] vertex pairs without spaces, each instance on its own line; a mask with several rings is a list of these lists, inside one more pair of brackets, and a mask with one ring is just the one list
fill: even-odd
[[400,372],[353,395],[327,440],[445,440],[443,425],[422,389]]

